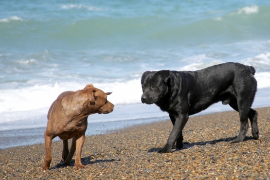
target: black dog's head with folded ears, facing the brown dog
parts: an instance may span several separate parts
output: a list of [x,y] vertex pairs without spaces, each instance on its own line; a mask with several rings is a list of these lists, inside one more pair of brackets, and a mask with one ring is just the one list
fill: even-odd
[[170,71],[162,70],[158,72],[144,72],[142,75],[142,103],[153,104],[161,101],[168,92],[167,82]]

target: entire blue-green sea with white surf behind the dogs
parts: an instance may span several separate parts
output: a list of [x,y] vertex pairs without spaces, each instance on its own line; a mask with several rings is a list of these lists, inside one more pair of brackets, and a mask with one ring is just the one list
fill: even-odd
[[[167,119],[141,103],[145,71],[243,63],[256,69],[253,108],[270,106],[269,32],[269,0],[1,0],[0,137],[43,133],[56,97],[87,84],[112,91],[115,105],[89,117],[88,134],[94,124],[103,131]],[[219,103],[203,112],[224,110]]]

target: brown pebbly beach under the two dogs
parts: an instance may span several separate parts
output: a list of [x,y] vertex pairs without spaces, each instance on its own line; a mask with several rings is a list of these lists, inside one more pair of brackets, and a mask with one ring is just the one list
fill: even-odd
[[172,124],[169,120],[132,126],[103,135],[87,136],[82,163],[85,169],[61,166],[62,142],[53,143],[49,171],[40,171],[44,144],[0,150],[1,179],[39,180],[177,180],[270,179],[270,107],[258,111],[259,140],[251,126],[244,142],[231,144],[238,135],[235,111],[193,116],[183,130],[184,147],[159,154]]

